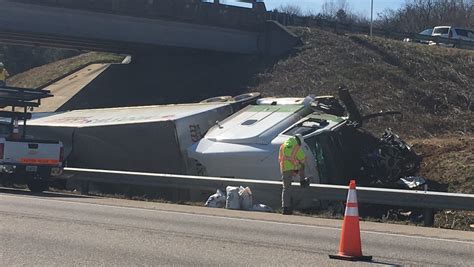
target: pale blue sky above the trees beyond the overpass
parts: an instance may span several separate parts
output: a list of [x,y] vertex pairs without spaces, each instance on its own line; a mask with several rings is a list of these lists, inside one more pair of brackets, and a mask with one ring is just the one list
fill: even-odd
[[[232,2],[233,0],[227,0]],[[321,6],[326,0],[264,0],[267,10],[272,10],[281,5],[297,5],[304,11],[312,11],[313,13],[319,13]],[[370,17],[370,0],[347,0],[351,9],[356,14]],[[374,0],[374,17],[377,17],[377,13],[382,12],[384,9],[398,9],[406,0]]]

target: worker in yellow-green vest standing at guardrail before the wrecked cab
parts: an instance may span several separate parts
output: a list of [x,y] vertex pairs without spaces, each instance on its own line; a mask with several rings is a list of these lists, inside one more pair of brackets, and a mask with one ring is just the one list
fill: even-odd
[[301,135],[288,138],[281,146],[278,160],[280,161],[283,189],[281,192],[281,206],[283,214],[293,213],[291,206],[291,182],[293,177],[304,177],[305,154],[301,149]]

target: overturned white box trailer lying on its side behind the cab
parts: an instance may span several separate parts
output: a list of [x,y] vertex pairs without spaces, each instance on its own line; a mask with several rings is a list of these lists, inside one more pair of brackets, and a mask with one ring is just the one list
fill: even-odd
[[65,146],[69,167],[190,173],[186,149],[230,116],[232,103],[196,103],[37,114],[28,134]]

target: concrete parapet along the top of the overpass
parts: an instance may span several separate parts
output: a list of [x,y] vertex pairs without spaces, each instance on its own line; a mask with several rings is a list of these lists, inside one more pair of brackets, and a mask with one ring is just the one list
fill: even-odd
[[201,0],[10,0],[26,4],[80,9],[116,15],[172,19],[183,22],[229,27],[242,30],[263,30],[266,9],[263,3],[243,8]]

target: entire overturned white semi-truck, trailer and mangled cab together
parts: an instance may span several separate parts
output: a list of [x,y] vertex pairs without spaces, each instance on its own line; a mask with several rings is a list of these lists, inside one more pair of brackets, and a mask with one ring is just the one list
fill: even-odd
[[[344,88],[338,98],[259,97],[34,114],[29,132],[61,140],[67,166],[85,169],[278,181],[280,146],[300,134],[307,176],[300,178],[312,183],[346,185],[356,178],[363,186],[400,187],[400,178],[418,171],[420,157],[397,135],[388,129],[378,138],[362,127],[399,112],[363,116]],[[317,196],[303,191],[295,206],[314,206]],[[259,193],[279,205],[278,194]]]

